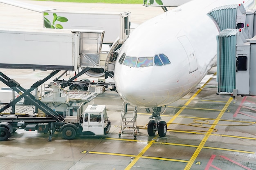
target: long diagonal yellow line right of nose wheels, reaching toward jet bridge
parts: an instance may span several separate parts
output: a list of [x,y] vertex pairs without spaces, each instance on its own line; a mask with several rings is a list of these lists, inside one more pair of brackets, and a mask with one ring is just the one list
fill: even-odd
[[200,151],[202,150],[204,144],[206,143],[207,139],[209,138],[212,130],[215,128],[215,126],[218,124],[219,119],[222,117],[222,115],[225,113],[225,111],[227,110],[227,107],[229,106],[229,104],[232,101],[232,97],[229,98],[227,104],[225,104],[224,108],[222,109],[222,111],[220,112],[220,114],[218,115],[218,117],[216,118],[216,120],[213,122],[213,125],[211,126],[211,128],[209,129],[209,131],[207,132],[207,134],[204,136],[204,138],[202,139],[201,143],[199,144],[198,148],[195,150],[194,154],[192,155],[191,159],[189,160],[189,163],[186,165],[186,167],[184,168],[184,170],[189,170],[191,168],[191,166],[193,165],[195,159],[198,157]]

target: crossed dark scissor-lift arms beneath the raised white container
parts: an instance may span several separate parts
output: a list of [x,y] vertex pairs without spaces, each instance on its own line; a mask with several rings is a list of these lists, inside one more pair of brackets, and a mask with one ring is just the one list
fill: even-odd
[[59,115],[58,113],[56,113],[54,110],[52,110],[51,108],[49,108],[49,106],[47,106],[46,104],[44,104],[43,102],[41,102],[40,100],[37,100],[33,95],[30,94],[31,91],[33,91],[35,88],[37,88],[38,86],[40,86],[41,84],[45,83],[48,79],[50,79],[52,76],[56,75],[59,71],[52,71],[52,73],[50,73],[50,75],[48,75],[47,77],[45,77],[43,80],[39,80],[38,82],[34,83],[31,88],[29,88],[28,90],[26,90],[25,88],[22,88],[20,86],[20,84],[18,82],[16,82],[13,79],[10,79],[9,77],[7,77],[6,75],[4,75],[4,73],[0,72],[0,81],[3,82],[4,84],[6,84],[7,86],[9,86],[10,88],[13,89],[13,91],[16,91],[17,93],[20,94],[19,97],[17,97],[16,99],[14,99],[12,102],[10,102],[9,104],[7,104],[6,106],[4,106],[3,108],[0,109],[0,113],[2,113],[2,111],[4,111],[5,109],[9,108],[9,107],[13,107],[15,106],[15,104],[17,102],[19,102],[23,97],[25,99],[28,99],[32,104],[34,104],[36,107],[38,107],[39,109],[41,109],[43,112],[45,112],[47,115],[49,115],[50,117],[52,117],[54,120],[56,121],[62,121],[63,118],[61,117],[61,115]]

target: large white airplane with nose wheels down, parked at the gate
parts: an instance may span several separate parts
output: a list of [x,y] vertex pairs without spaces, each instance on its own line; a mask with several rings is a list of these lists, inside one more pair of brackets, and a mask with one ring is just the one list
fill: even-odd
[[130,33],[115,63],[115,85],[127,103],[153,108],[148,135],[166,136],[161,107],[191,92],[216,64],[220,29],[207,13],[240,3],[251,8],[255,0],[192,0]]

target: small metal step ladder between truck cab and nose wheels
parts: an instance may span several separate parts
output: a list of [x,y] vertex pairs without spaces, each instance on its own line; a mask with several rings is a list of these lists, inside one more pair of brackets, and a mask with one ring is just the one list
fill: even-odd
[[[119,137],[121,136],[132,136],[137,137],[137,107],[131,106],[126,102],[123,103],[121,111],[121,130]],[[120,135],[121,133],[121,135]]]

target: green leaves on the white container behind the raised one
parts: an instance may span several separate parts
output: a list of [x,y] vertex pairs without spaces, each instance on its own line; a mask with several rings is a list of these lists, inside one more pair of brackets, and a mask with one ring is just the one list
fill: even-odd
[[[49,13],[45,12],[44,16],[49,15]],[[53,20],[52,23],[44,17],[44,23],[45,23],[45,28],[52,28],[52,29],[63,29],[63,26],[61,24],[55,24],[56,21],[59,22],[67,22],[68,19],[65,17],[57,16],[56,13],[53,13]]]

